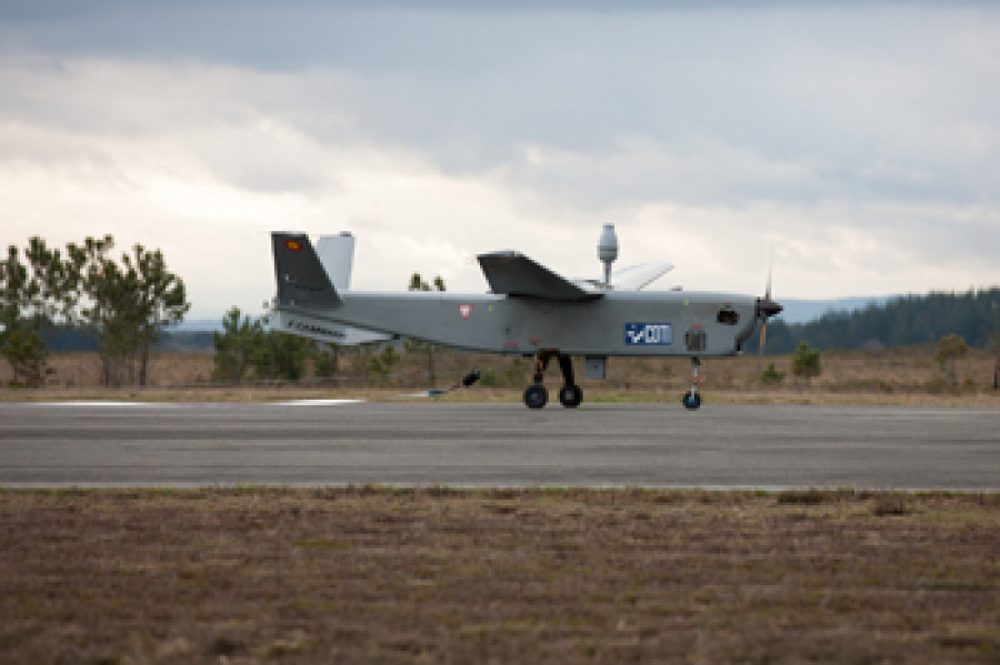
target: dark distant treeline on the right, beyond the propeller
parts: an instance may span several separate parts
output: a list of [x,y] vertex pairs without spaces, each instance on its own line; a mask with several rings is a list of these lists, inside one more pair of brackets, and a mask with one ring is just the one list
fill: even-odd
[[[780,299],[779,299],[780,300]],[[1000,316],[1000,288],[966,293],[904,295],[851,312],[831,311],[809,323],[768,324],[767,352],[792,353],[799,342],[812,349],[866,350],[936,344],[957,334],[970,346],[989,346]],[[756,352],[758,335],[743,346]]]

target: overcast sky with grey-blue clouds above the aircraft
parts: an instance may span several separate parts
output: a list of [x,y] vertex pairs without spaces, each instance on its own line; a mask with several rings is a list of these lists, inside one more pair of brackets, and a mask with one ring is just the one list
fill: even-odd
[[1000,284],[1000,4],[0,0],[0,242],[159,248],[190,318],[261,311],[272,230],[482,292],[608,222],[660,288]]

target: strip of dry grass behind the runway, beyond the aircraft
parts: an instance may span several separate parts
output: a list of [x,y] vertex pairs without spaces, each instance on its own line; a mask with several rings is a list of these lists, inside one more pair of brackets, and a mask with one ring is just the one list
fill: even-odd
[[[461,391],[450,400],[520,400],[531,377],[531,360],[470,354],[438,350],[437,381],[428,382],[427,356],[403,354],[388,376],[362,371],[363,356],[344,354],[337,380],[317,381],[307,366],[306,379],[283,384],[248,382],[219,385],[212,381],[211,354],[168,353],[153,355],[150,386],[99,387],[100,363],[96,354],[53,354],[54,373],[47,389],[24,391],[0,389],[0,400],[110,397],[183,401],[254,401],[296,396],[363,396],[378,399],[400,390],[441,387],[457,381],[472,367],[483,370],[483,380],[471,391]],[[761,363],[754,355],[709,359],[702,364],[702,387],[709,402],[753,403],[861,403],[861,404],[951,404],[1000,406],[1000,391],[992,390],[996,356],[986,350],[971,350],[958,362],[956,384],[934,361],[934,347],[917,346],[887,351],[826,352],[822,374],[811,381],[792,375],[789,355],[764,357],[763,366],[774,363],[786,374],[777,384],[761,381]],[[611,359],[604,381],[578,376],[586,401],[676,402],[690,381],[686,359]],[[0,362],[0,384],[7,384],[10,371]],[[550,367],[547,382],[560,381],[557,367]]]

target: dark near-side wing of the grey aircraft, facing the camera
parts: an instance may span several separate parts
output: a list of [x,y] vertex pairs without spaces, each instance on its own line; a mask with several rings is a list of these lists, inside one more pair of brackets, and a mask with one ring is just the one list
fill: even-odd
[[477,259],[493,293],[546,300],[591,300],[603,295],[598,289],[570,282],[519,252],[491,252]]

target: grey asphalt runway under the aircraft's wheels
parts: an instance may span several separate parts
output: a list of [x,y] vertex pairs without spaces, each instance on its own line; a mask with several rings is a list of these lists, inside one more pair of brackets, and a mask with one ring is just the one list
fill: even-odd
[[0,404],[0,486],[1000,490],[1000,411]]

